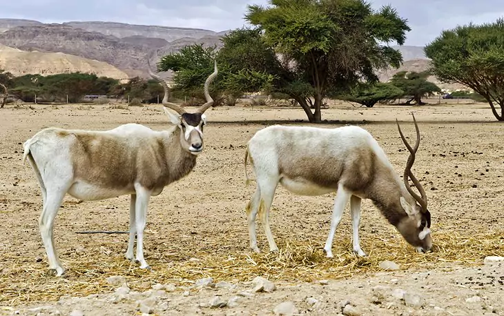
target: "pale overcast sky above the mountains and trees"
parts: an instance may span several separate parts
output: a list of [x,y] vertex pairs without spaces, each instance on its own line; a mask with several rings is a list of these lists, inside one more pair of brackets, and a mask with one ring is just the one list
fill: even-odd
[[[0,17],[44,23],[115,21],[132,24],[229,30],[246,25],[247,4],[267,0],[1,0]],[[424,46],[443,29],[504,17],[501,0],[371,0],[374,8],[394,6],[408,19],[406,45]],[[421,4],[420,4],[421,3]]]

